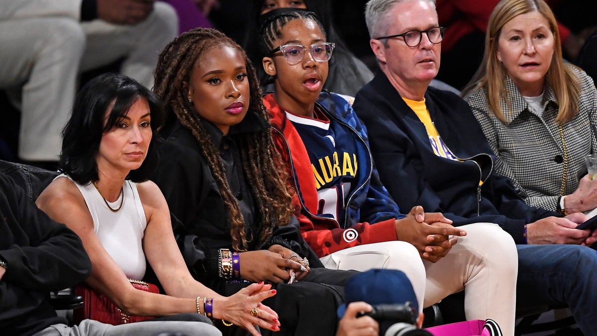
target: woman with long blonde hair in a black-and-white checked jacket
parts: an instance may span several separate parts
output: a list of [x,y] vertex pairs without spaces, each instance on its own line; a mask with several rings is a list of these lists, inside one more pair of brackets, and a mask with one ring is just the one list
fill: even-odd
[[597,153],[597,90],[562,62],[552,10],[543,0],[501,1],[485,41],[484,62],[463,95],[496,155],[496,173],[531,206],[595,209],[597,181],[584,156]]

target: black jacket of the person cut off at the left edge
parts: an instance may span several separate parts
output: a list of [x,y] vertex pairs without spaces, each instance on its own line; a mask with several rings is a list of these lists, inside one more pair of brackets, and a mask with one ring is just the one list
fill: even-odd
[[[50,178],[52,173],[45,175]],[[67,323],[56,316],[48,295],[84,281],[91,273],[91,261],[79,237],[33,203],[32,196],[42,189],[38,182],[26,167],[0,161],[0,258],[7,262],[0,279],[3,335],[31,335]]]

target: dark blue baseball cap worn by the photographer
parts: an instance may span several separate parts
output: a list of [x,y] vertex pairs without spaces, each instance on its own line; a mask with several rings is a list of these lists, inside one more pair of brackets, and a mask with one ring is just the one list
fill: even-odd
[[403,271],[372,269],[350,277],[344,285],[344,304],[338,307],[341,319],[346,305],[355,301],[365,301],[371,306],[377,304],[406,304],[410,302],[418,311],[417,295],[413,285]]

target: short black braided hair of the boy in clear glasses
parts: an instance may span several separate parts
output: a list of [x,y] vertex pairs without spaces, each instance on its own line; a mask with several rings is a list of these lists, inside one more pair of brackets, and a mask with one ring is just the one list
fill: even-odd
[[290,11],[287,13],[275,14],[268,17],[263,24],[261,24],[261,28],[259,29],[259,48],[261,54],[269,56],[270,51],[279,47],[279,45],[274,45],[274,42],[282,36],[282,29],[284,26],[286,26],[288,22],[296,19],[313,20],[317,23],[321,32],[324,33],[324,37],[327,36],[324,26],[319,22],[319,19],[313,12]]

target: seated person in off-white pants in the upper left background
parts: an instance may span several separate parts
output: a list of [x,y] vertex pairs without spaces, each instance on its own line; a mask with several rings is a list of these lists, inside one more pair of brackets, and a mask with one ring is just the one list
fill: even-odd
[[21,111],[19,160],[56,169],[80,72],[122,59],[122,74],[152,87],[177,24],[155,0],[2,0],[0,88]]

